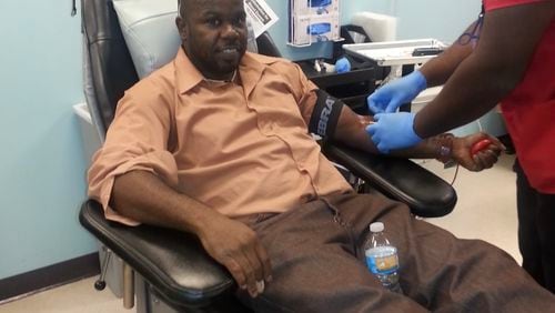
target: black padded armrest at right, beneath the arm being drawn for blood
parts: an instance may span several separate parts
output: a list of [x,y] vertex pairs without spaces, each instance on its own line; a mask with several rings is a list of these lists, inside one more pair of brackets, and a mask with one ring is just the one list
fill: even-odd
[[386,196],[406,203],[415,215],[437,218],[455,208],[453,186],[411,160],[372,155],[331,142],[323,144],[323,151]]

